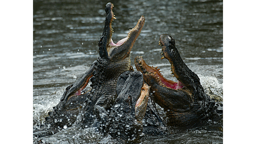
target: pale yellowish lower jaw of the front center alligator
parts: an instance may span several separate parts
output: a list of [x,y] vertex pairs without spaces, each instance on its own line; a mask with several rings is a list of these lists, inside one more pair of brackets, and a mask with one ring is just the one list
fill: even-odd
[[141,121],[146,113],[149,89],[150,87],[144,83],[143,87],[141,88],[140,97],[135,104],[135,117],[138,121]]

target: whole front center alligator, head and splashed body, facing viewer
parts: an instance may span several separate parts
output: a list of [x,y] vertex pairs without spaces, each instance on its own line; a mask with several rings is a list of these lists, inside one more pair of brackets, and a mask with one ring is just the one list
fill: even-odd
[[118,97],[106,122],[105,135],[118,140],[133,141],[144,134],[163,134],[167,128],[159,116],[139,71],[126,71],[117,81]]

